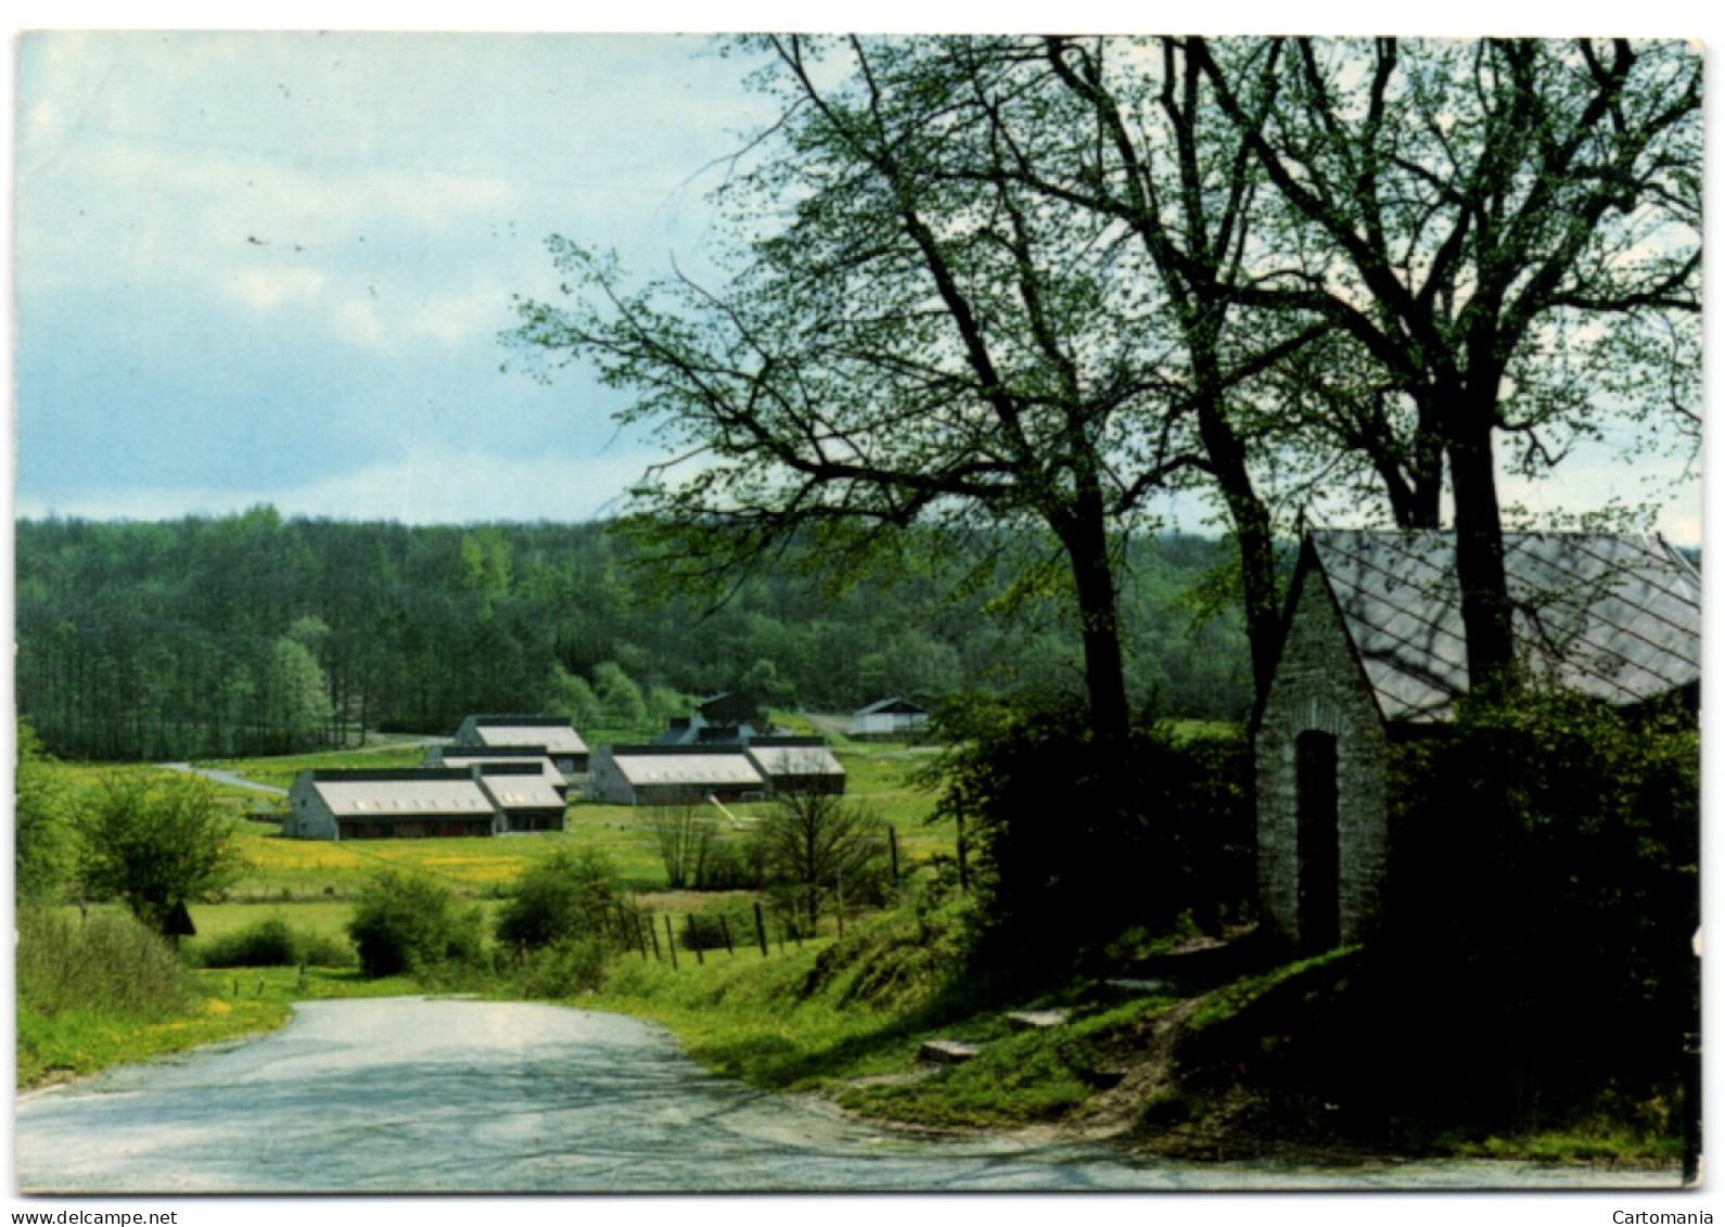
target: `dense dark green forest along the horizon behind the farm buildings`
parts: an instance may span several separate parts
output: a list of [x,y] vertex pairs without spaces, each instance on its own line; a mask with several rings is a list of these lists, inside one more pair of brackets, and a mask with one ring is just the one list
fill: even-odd
[[[471,711],[628,725],[745,680],[825,711],[1082,683],[1061,604],[1013,592],[1018,573],[980,547],[840,595],[785,568],[707,611],[647,599],[604,525],[407,528],[257,507],[21,521],[16,540],[19,711],[71,758],[357,744],[366,728],[450,732]],[[1223,547],[1152,537],[1126,556],[1133,694],[1239,718],[1244,635],[1204,595]]]

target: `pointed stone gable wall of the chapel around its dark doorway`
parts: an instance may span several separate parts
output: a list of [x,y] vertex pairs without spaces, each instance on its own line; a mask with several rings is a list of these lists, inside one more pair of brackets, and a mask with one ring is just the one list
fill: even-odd
[[1337,913],[1340,941],[1371,937],[1383,915],[1389,818],[1389,739],[1340,614],[1313,557],[1264,701],[1254,742],[1258,771],[1258,892],[1264,925],[1299,951],[1299,790],[1295,744],[1304,732],[1335,737]]

